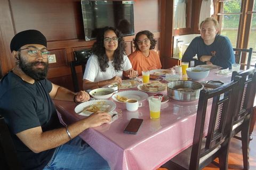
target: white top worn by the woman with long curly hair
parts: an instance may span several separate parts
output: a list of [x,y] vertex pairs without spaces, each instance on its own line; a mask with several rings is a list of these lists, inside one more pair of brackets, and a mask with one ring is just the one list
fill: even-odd
[[115,77],[115,75],[122,78],[123,71],[127,71],[132,68],[132,64],[127,55],[124,55],[124,63],[121,66],[121,71],[115,70],[113,66],[113,61],[109,61],[108,65],[109,67],[106,68],[106,72],[102,72],[100,69],[100,63],[98,61],[97,55],[91,55],[89,60],[87,61],[83,79],[89,80],[91,82],[98,82],[111,79]]

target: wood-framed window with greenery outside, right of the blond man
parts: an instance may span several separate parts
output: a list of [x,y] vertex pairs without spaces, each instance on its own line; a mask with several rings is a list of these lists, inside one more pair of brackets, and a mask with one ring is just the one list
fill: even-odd
[[[233,48],[253,48],[256,62],[256,0],[218,0],[219,33],[230,39]],[[251,20],[252,18],[252,20]],[[246,63],[246,58],[242,59]]]

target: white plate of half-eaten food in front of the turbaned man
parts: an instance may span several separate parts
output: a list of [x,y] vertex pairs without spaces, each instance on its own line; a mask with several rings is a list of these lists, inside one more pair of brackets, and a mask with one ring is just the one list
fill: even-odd
[[84,107],[89,107],[91,105],[95,105],[95,106],[109,105],[108,108],[100,108],[100,111],[102,111],[102,112],[112,112],[116,108],[116,104],[113,101],[99,99],[99,100],[86,101],[84,103],[77,105],[75,108],[75,112],[76,113],[81,112],[81,113],[79,113],[79,115],[82,115],[82,116],[90,116],[93,112],[89,112],[89,111],[82,112],[82,111],[83,111]]

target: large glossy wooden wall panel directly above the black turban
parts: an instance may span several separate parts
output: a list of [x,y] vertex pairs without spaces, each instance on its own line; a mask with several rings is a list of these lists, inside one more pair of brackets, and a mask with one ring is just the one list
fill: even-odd
[[48,41],[84,39],[80,0],[10,0],[15,33],[42,31]]

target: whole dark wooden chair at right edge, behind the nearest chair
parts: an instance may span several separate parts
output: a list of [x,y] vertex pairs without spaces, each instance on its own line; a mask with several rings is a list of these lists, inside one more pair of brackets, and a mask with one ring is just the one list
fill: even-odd
[[[239,90],[237,104],[234,105],[239,112],[236,112],[234,116],[232,137],[242,140],[244,169],[249,169],[249,129],[255,98],[256,68],[240,73],[233,72],[231,80],[234,80],[236,75],[242,77],[242,83],[239,85],[241,90]],[[236,136],[238,132],[241,132],[241,137]]]

